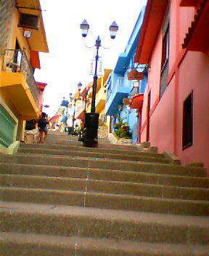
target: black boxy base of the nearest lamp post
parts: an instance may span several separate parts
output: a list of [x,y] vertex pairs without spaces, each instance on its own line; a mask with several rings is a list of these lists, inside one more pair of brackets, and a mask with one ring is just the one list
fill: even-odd
[[80,140],[84,147],[98,146],[98,127],[99,127],[99,113],[86,113],[85,123],[83,126],[83,134]]

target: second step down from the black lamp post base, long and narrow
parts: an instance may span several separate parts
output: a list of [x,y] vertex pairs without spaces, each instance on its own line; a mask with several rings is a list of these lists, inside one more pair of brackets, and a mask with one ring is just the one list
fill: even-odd
[[101,159],[120,159],[120,160],[128,160],[128,161],[147,161],[147,162],[157,162],[157,163],[164,163],[169,164],[170,160],[161,158],[161,157],[150,157],[150,156],[126,156],[120,154],[113,154],[113,153],[99,153],[99,152],[84,152],[84,151],[63,151],[57,149],[47,149],[47,148],[20,148],[19,153],[35,153],[35,154],[47,154],[53,156],[81,156],[87,158],[101,158]]

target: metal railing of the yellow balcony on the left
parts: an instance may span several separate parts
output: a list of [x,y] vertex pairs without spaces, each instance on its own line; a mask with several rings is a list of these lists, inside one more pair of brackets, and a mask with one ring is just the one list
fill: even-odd
[[39,105],[40,91],[33,76],[33,68],[30,66],[28,57],[20,49],[5,49],[3,71],[22,73],[36,102]]

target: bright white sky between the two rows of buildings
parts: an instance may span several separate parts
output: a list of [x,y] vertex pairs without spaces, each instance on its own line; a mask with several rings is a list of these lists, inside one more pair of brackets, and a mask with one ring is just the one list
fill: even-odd
[[[49,116],[59,108],[62,97],[75,92],[79,81],[87,84],[93,81],[90,76],[90,60],[95,57],[95,47],[89,49],[83,44],[80,24],[86,19],[90,25],[86,44],[93,46],[100,36],[99,48],[104,68],[115,67],[120,52],[124,52],[131,32],[134,29],[140,9],[147,0],[41,0],[46,39],[49,54],[40,54],[41,70],[36,69],[36,81],[46,82],[44,104]],[[119,26],[115,40],[111,41],[109,26],[112,21]]]

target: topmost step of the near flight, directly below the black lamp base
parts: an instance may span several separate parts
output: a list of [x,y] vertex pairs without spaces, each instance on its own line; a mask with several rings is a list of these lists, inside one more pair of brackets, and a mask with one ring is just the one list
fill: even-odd
[[128,156],[150,156],[165,158],[163,153],[152,153],[151,151],[132,151],[132,149],[118,149],[115,148],[86,148],[81,145],[59,145],[57,143],[44,143],[44,144],[25,144],[21,143],[20,148],[40,148],[40,149],[56,149],[64,151],[83,151],[83,152],[96,152],[96,153],[115,153],[118,155],[128,155]]

